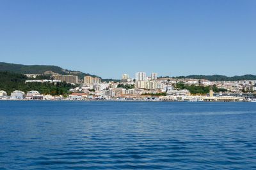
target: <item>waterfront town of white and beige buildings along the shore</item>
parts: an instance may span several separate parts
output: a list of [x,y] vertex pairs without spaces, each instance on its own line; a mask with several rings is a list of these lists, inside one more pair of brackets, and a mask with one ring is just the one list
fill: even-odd
[[[136,78],[129,78],[123,74],[120,82],[102,82],[98,77],[84,76],[84,80],[77,81],[77,76],[56,76],[58,80],[29,80],[35,82],[56,83],[68,81],[75,83],[77,87],[69,89],[68,96],[51,96],[40,94],[32,90],[22,92],[15,90],[7,95],[0,91],[0,99],[8,100],[140,100],[140,101],[255,101],[256,81],[209,81],[188,78],[157,78],[157,73],[146,76],[144,72],[138,72]],[[26,83],[28,83],[26,82]],[[207,95],[191,95],[189,90],[175,89],[177,83],[185,85],[216,86],[226,89],[227,92],[213,93]]]

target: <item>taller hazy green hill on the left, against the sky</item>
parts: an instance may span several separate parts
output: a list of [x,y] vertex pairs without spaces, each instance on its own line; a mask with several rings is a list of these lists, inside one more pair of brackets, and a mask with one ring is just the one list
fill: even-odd
[[6,62],[0,62],[0,71],[9,71],[12,73],[21,73],[21,74],[63,74],[63,75],[75,75],[79,79],[83,79],[84,76],[93,76],[89,73],[83,73],[81,71],[71,71],[68,69],[63,69],[58,66],[46,66],[46,65],[22,65],[22,64],[11,64]]

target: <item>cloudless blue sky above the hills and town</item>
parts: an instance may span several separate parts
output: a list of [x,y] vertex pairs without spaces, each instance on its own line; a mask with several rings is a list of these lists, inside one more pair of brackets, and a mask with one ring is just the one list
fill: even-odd
[[102,78],[256,74],[256,1],[0,1],[0,61]]

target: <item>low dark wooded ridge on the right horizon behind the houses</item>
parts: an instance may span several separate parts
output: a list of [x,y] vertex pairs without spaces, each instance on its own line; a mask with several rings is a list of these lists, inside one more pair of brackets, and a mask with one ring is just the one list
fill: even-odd
[[189,76],[179,76],[176,78],[195,78],[195,79],[205,79],[210,81],[240,81],[240,80],[256,80],[256,75],[246,74],[243,76],[223,76],[223,75],[189,75]]

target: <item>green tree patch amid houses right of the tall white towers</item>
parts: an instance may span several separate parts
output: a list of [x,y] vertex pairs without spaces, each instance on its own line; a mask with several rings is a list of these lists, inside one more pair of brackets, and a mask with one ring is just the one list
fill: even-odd
[[207,94],[212,89],[214,92],[226,92],[227,89],[218,89],[216,85],[211,86],[203,86],[203,85],[186,85],[182,82],[176,84],[177,89],[187,89],[191,94]]

